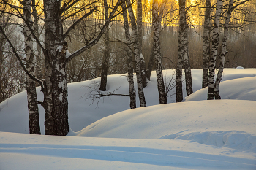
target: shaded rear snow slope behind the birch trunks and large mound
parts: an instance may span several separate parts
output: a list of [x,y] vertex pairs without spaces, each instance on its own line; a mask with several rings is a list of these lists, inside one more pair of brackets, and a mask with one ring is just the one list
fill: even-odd
[[[172,80],[174,73],[175,70],[164,71],[166,82]],[[255,77],[255,75],[256,69],[225,69],[222,81],[241,77]],[[175,76],[173,79],[175,79]],[[104,98],[104,100],[99,101],[98,107],[97,101],[94,101],[94,104],[91,104],[91,100],[85,100],[86,93],[90,90],[88,87],[94,87],[95,82],[99,83],[99,81],[100,79],[97,78],[94,80],[68,84],[69,127],[73,131],[80,131],[83,128],[86,128],[87,125],[90,125],[103,117],[129,109],[129,97],[127,96],[110,96],[109,98]],[[173,81],[174,80],[172,80],[172,82]],[[192,69],[192,83],[194,92],[201,89],[202,69]],[[246,87],[246,85],[248,84],[244,84],[243,87]],[[118,90],[116,90],[117,88]],[[222,89],[222,83],[220,88]],[[232,90],[232,88],[228,87],[225,89]],[[107,90],[106,93],[116,90],[116,93],[129,94],[127,77],[121,74],[108,76]],[[152,72],[151,81],[148,82],[148,86],[144,88],[144,92],[147,106],[159,104],[156,72]],[[171,94],[174,93],[175,88],[171,91]],[[37,94],[38,101],[42,101],[42,93],[39,88],[37,88]],[[185,97],[185,91],[183,94]],[[221,96],[222,98],[225,97],[223,96],[222,91]],[[175,95],[167,98],[168,103],[175,102],[175,98]],[[0,131],[28,134],[29,116],[26,106],[26,91],[18,93],[17,95],[8,98],[6,101],[3,101],[0,104]],[[140,107],[138,98],[137,107]],[[45,115],[41,106],[39,106],[39,117],[41,132],[44,134]]]

